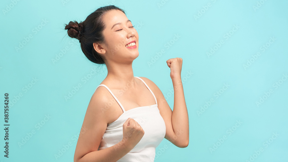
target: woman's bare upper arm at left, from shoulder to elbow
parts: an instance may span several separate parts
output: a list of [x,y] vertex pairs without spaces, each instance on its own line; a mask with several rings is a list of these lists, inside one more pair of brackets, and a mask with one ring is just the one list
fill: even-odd
[[81,136],[79,135],[74,161],[99,148],[110,119],[109,112],[105,109],[105,104],[109,100],[107,92],[109,93],[105,87],[100,86],[90,99],[82,124],[82,129],[85,131],[81,131]]

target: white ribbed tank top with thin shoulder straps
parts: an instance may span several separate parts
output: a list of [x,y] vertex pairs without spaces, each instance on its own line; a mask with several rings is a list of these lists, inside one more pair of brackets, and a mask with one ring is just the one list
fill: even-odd
[[[139,77],[136,78],[143,81],[143,79]],[[106,85],[99,85],[104,86],[108,89],[111,95],[118,102],[119,106],[122,108],[123,113],[118,119],[107,125],[106,131],[101,139],[98,150],[103,150],[105,148],[111,147],[123,139],[123,124],[129,117],[137,121],[137,123],[139,123],[139,125],[141,125],[142,129],[145,131],[145,134],[139,141],[139,143],[129,153],[119,159],[119,162],[154,161],[156,147],[161,143],[166,134],[165,122],[160,115],[156,97],[151,91],[151,89],[148,87],[148,85],[145,83],[145,81],[143,81],[143,83],[155,98],[156,104],[136,107],[127,111],[125,111],[122,104]]]

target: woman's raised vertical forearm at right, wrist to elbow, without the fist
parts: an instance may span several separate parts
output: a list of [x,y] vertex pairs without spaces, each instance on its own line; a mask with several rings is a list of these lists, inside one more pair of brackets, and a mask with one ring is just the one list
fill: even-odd
[[177,143],[185,145],[189,142],[189,119],[181,76],[173,77],[172,82],[174,87],[172,127],[177,136]]

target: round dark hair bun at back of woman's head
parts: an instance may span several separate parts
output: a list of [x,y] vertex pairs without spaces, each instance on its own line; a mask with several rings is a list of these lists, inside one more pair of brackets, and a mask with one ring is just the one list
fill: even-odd
[[67,33],[69,37],[76,38],[81,42],[82,37],[82,22],[78,23],[77,21],[70,21],[69,24],[65,24],[65,30],[68,30]]

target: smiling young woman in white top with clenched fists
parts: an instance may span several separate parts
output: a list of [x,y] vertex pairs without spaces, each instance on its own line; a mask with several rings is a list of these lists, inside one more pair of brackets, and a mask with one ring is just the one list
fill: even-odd
[[86,131],[79,135],[74,162],[154,161],[163,138],[181,148],[188,146],[181,58],[167,60],[174,87],[172,111],[154,82],[133,75],[139,37],[122,9],[100,7],[85,21],[65,25],[68,35],[79,39],[85,56],[108,70],[89,102],[82,125]]

